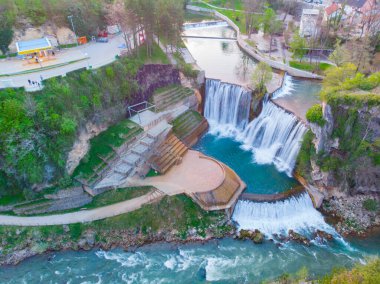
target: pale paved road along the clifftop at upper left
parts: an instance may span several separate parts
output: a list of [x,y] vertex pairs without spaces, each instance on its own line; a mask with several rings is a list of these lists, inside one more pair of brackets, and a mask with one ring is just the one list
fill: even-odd
[[[65,49],[61,52],[57,52],[57,58],[61,55],[63,60],[58,60],[60,64],[71,61],[70,58],[83,59],[85,60],[64,65],[61,67],[56,67],[49,70],[38,71],[24,75],[12,75],[0,77],[0,88],[6,87],[27,87],[29,88],[28,79],[32,81],[41,81],[41,76],[43,79],[48,79],[52,77],[62,76],[68,72],[80,69],[88,68],[98,68],[103,65],[107,65],[115,60],[115,56],[119,55],[121,50],[119,46],[124,44],[124,39],[122,35],[117,35],[109,40],[108,43],[91,42],[79,47],[74,47],[70,49]],[[21,62],[21,64],[20,64]],[[42,63],[44,64],[44,63]],[[18,67],[18,68],[17,68]],[[22,65],[22,61],[17,58],[11,60],[0,60],[0,70],[1,74],[10,74],[15,72],[22,72],[28,70]]]

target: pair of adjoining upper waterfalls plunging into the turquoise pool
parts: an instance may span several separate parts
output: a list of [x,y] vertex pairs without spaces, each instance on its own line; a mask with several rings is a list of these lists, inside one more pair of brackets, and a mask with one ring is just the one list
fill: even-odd
[[[287,80],[292,80],[289,78],[284,80],[284,86]],[[254,153],[258,164],[273,163],[279,171],[291,176],[306,127],[268,99],[261,114],[248,123],[250,102],[246,89],[208,79],[204,113],[210,132],[234,137],[243,143],[245,150]]]

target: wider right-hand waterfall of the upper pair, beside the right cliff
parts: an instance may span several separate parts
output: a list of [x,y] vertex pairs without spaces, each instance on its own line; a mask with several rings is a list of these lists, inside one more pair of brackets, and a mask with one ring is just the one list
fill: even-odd
[[258,164],[273,163],[279,171],[291,176],[306,131],[296,116],[265,100],[261,114],[238,139],[244,149],[254,153]]

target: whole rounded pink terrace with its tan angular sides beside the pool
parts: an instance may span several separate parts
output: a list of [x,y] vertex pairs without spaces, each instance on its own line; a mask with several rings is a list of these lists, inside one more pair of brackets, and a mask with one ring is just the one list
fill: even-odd
[[133,182],[154,186],[167,195],[185,193],[208,211],[233,207],[246,187],[229,167],[194,150],[188,150],[165,174]]

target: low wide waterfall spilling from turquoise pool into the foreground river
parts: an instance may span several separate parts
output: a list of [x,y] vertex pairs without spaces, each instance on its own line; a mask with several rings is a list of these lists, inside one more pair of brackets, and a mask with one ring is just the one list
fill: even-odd
[[287,234],[290,229],[306,235],[315,229],[336,234],[313,207],[307,193],[275,203],[239,200],[232,219],[240,229],[258,229],[266,236]]

